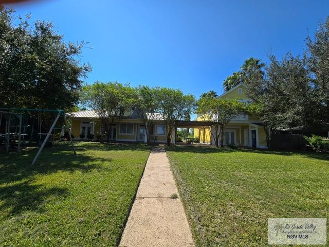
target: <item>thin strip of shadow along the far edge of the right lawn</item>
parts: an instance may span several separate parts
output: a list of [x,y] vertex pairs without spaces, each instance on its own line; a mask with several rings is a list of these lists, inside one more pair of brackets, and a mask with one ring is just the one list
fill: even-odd
[[279,150],[266,150],[266,149],[249,149],[249,148],[216,148],[213,146],[166,146],[167,151],[173,152],[193,152],[193,153],[257,153],[262,155],[302,155],[307,158],[317,158],[319,160],[329,161],[329,155],[325,153],[316,153],[311,151],[279,151]]

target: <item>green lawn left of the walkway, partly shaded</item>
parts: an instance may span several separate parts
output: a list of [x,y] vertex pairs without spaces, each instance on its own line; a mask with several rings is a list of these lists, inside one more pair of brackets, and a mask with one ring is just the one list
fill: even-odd
[[116,246],[150,153],[77,143],[0,155],[0,246]]

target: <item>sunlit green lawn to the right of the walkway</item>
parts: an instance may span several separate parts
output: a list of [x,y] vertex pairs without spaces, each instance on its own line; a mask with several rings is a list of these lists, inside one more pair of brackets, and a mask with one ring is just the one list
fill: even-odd
[[199,247],[265,246],[268,218],[329,217],[329,155],[210,147],[167,151]]

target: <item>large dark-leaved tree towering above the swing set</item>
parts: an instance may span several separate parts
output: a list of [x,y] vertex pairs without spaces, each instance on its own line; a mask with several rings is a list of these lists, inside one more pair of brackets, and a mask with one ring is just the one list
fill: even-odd
[[85,43],[65,43],[51,23],[13,13],[0,6],[0,105],[71,111],[91,69],[77,59]]

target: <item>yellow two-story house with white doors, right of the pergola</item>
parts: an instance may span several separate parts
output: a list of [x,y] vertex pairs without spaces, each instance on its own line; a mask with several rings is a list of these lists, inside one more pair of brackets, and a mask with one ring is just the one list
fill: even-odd
[[[237,99],[241,102],[249,101],[245,94],[244,84],[239,84],[221,96],[223,99]],[[202,121],[198,116],[196,121]],[[194,129],[194,138],[199,138],[200,143],[215,145],[214,126]],[[257,117],[241,113],[233,117],[224,129],[224,145],[234,144],[238,147],[267,148],[266,134],[262,123]]]

